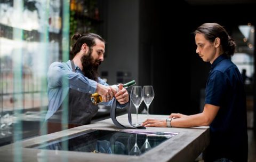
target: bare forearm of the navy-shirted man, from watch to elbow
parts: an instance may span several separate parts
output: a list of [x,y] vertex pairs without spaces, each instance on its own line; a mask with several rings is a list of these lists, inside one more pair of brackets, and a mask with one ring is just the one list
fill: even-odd
[[204,116],[203,113],[189,115],[182,118],[175,118],[171,121],[173,127],[196,127],[196,126],[209,126],[209,120]]

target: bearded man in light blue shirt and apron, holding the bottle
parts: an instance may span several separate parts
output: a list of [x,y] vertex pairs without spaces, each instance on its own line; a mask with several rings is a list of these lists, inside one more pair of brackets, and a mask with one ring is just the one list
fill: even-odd
[[[97,92],[103,104],[110,106],[113,98],[119,108],[129,102],[129,94],[122,84],[118,92],[98,76],[104,59],[105,40],[97,34],[75,34],[71,54],[73,60],[53,62],[47,73],[49,106],[45,117],[47,133],[90,124],[98,112],[91,94]],[[42,130],[41,130],[42,132]]]

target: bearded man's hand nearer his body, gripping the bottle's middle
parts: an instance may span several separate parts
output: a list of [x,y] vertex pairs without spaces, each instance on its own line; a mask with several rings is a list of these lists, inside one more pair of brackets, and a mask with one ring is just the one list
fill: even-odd
[[111,91],[110,86],[97,83],[96,92],[102,96],[103,102],[108,102],[113,99],[114,92]]

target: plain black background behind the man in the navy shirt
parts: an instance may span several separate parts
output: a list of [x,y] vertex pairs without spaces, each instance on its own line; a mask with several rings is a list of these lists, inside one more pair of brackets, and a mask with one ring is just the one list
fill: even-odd
[[150,113],[198,113],[199,93],[211,65],[196,54],[193,31],[202,23],[217,22],[232,35],[234,26],[255,24],[254,10],[255,4],[250,3],[140,1],[139,80],[142,85],[152,84],[158,96],[153,102],[157,109],[149,109]]

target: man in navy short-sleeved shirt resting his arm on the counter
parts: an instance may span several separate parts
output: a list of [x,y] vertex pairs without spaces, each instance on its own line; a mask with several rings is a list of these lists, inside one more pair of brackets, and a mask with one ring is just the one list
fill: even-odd
[[203,112],[195,115],[172,113],[169,116],[171,119],[147,119],[142,125],[210,126],[210,145],[205,151],[206,162],[247,161],[248,137],[243,78],[230,60],[235,51],[235,42],[218,23],[204,23],[194,34],[196,53],[203,61],[211,63]]

